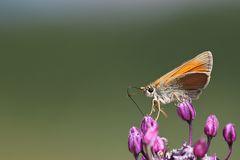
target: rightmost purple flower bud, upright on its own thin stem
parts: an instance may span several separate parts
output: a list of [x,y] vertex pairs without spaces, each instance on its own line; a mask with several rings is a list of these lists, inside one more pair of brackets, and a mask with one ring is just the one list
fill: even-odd
[[223,137],[229,146],[236,140],[236,129],[233,123],[228,123],[223,129]]

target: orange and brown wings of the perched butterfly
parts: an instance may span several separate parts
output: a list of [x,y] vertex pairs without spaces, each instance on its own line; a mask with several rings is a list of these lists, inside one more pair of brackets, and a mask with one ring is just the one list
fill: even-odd
[[199,90],[205,88],[209,83],[212,66],[212,53],[206,51],[151,84],[156,88],[168,88],[177,84],[181,87],[179,89]]

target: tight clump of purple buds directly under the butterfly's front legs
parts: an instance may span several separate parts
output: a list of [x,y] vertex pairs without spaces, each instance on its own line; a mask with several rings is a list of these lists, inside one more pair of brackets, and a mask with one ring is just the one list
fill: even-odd
[[145,116],[140,129],[132,127],[128,135],[128,148],[138,159],[161,158],[166,152],[167,140],[158,136],[158,124],[150,116]]

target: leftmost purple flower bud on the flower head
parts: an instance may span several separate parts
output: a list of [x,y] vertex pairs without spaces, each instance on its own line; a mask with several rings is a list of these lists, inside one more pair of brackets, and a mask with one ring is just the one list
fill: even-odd
[[129,130],[128,149],[135,156],[137,156],[142,151],[142,133],[136,127],[132,127]]

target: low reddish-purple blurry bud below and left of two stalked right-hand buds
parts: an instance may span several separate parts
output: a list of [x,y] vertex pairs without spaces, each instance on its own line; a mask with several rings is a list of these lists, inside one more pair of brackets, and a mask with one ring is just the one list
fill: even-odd
[[207,142],[200,138],[194,145],[193,153],[197,158],[203,158],[208,151]]

